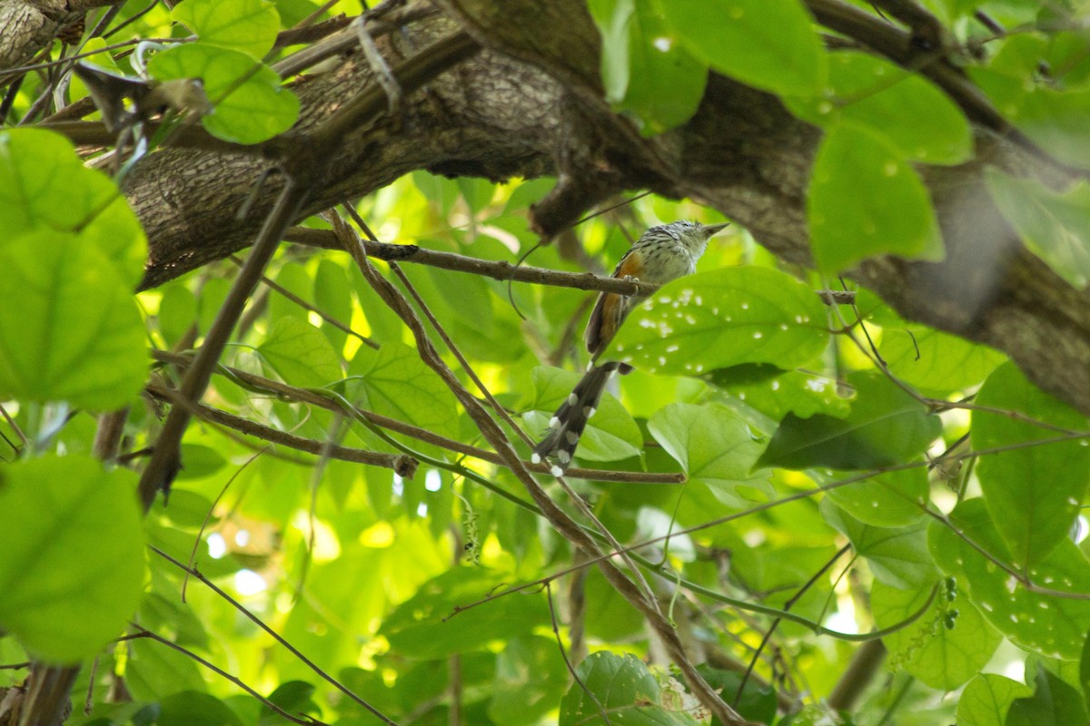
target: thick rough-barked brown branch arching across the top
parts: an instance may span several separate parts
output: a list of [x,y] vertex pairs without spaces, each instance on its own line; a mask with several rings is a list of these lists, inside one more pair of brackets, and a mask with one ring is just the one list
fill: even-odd
[[[532,212],[545,236],[610,194],[650,188],[714,207],[780,258],[810,262],[806,190],[820,131],[775,97],[713,74],[688,124],[644,139],[603,100],[600,40],[584,3],[436,4],[441,15],[380,41],[388,62],[459,27],[485,51],[408,96],[396,114],[347,136],[306,213],[417,169],[491,180],[552,174],[556,188]],[[372,81],[356,52],[344,54],[332,72],[298,79],[304,111],[293,133],[302,141]],[[1090,414],[1090,296],[1022,249],[983,186],[986,164],[1050,181],[1059,174],[981,127],[972,163],[922,170],[946,260],[882,258],[852,276],[909,319],[1006,352],[1042,389]],[[192,149],[167,149],[143,161],[125,193],[152,245],[145,285],[246,246],[280,186],[278,176],[266,179],[245,218],[238,211],[270,168],[256,157]]]

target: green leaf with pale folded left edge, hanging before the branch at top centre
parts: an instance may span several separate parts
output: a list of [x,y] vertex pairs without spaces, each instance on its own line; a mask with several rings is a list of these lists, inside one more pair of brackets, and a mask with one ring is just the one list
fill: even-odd
[[679,42],[653,0],[591,5],[601,19],[602,76],[614,110],[633,114],[644,136],[691,119],[704,97],[707,65]]

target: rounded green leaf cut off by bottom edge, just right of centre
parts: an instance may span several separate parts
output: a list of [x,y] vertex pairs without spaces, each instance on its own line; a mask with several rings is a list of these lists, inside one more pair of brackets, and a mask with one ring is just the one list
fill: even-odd
[[[559,726],[695,726],[698,723],[683,710],[663,707],[664,693],[658,681],[633,655],[592,653],[576,673],[580,682],[573,684],[560,702]],[[603,712],[608,721],[603,718]]]

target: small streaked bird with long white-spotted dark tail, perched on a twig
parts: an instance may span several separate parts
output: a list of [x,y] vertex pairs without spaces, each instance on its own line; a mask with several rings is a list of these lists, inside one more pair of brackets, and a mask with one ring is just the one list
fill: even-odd
[[[653,226],[635,241],[621,257],[613,276],[620,280],[639,280],[654,285],[663,285],[697,270],[697,260],[707,248],[711,236],[725,226],[723,224],[700,224],[680,221]],[[591,365],[549,420],[549,431],[534,447],[531,460],[541,464],[554,459],[549,469],[555,477],[562,476],[579,446],[579,438],[586,428],[586,420],[594,415],[606,382],[614,371],[630,372],[631,367],[616,360],[598,362],[597,358],[617,334],[617,330],[628,313],[646,295],[618,295],[602,293],[591,311],[583,341],[591,354]]]

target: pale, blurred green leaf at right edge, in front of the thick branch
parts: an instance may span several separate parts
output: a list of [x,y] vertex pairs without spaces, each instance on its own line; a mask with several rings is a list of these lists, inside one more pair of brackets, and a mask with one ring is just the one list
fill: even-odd
[[1090,283],[1090,184],[1066,192],[1049,189],[1031,179],[1015,179],[992,169],[984,181],[1000,211],[1022,242],[1075,287]]

